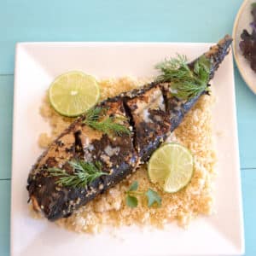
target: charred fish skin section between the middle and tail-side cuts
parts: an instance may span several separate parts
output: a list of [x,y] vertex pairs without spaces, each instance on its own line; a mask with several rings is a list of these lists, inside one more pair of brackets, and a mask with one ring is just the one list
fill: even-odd
[[161,86],[156,85],[142,95],[125,101],[135,130],[135,148],[143,162],[158,148],[171,129],[170,118]]

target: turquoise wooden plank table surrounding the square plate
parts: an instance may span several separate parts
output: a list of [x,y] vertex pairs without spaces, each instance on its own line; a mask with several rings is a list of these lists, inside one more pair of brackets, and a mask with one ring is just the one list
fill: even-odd
[[[15,44],[21,41],[215,42],[242,0],[0,2],[0,255],[9,255]],[[246,255],[256,255],[256,96],[235,66]],[[227,183],[229,181],[227,180]]]

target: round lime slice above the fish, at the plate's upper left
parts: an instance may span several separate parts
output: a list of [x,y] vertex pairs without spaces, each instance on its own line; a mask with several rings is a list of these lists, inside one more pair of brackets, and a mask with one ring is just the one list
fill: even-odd
[[100,97],[96,79],[80,71],[63,73],[49,87],[49,102],[55,111],[74,117],[96,105]]

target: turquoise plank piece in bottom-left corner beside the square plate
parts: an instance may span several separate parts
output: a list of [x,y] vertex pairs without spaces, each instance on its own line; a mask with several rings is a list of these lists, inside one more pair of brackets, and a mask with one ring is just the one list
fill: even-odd
[[0,180],[0,255],[9,255],[10,181]]

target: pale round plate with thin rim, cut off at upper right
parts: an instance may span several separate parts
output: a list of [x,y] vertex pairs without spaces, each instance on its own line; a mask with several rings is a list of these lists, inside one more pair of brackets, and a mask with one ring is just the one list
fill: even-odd
[[236,60],[236,65],[241,73],[241,77],[247,83],[249,88],[256,94],[256,73],[250,67],[250,62],[242,55],[239,43],[241,41],[241,32],[243,29],[247,29],[247,32],[251,33],[252,28],[250,23],[253,21],[253,15],[251,15],[251,4],[255,3],[255,0],[244,0],[239,9],[233,28],[233,49]]

